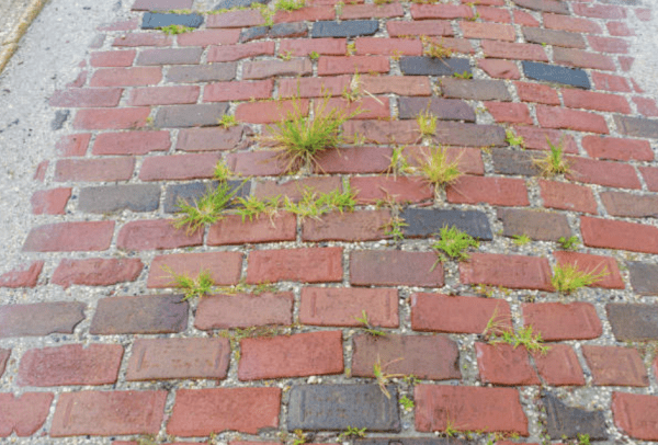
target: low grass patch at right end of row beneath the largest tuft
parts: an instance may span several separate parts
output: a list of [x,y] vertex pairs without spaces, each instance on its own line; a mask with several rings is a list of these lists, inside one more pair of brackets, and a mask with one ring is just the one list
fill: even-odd
[[349,185],[344,186],[344,191],[333,190],[329,193],[317,193],[313,189],[305,189],[302,198],[298,202],[293,202],[285,196],[283,207],[286,212],[297,215],[300,218],[316,218],[338,210],[352,212],[356,205],[356,193]]

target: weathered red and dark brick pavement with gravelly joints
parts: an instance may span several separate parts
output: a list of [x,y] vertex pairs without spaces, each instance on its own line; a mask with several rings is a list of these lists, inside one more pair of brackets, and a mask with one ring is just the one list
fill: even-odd
[[[36,175],[33,261],[0,276],[0,437],[658,442],[658,107],[627,76],[624,38],[650,11],[617,3],[317,0],[268,26],[253,9],[137,0],[50,99],[72,124]],[[194,31],[154,28],[168,24]],[[421,36],[453,56],[423,56]],[[342,93],[356,73],[371,95],[343,126],[352,144],[288,178],[257,136],[296,94],[305,110],[326,92],[354,106]],[[395,147],[420,149],[426,109],[466,172],[446,190],[386,173]],[[225,114],[239,125],[219,127]],[[547,140],[568,153],[564,178],[538,175]],[[243,196],[349,184],[358,206],[175,229],[178,198],[200,197],[220,160]],[[387,197],[398,206],[374,205]],[[396,210],[401,241],[385,230]],[[436,264],[444,225],[481,241],[468,261]],[[561,250],[571,236],[582,244]],[[561,295],[560,264],[609,274]],[[183,301],[164,266],[240,292]],[[490,344],[492,319],[548,351]],[[386,391],[377,363],[398,376]]]

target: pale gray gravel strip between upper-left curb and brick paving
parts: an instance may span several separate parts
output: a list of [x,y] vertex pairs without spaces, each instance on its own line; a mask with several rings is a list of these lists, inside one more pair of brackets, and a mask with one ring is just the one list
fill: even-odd
[[78,76],[97,26],[127,15],[132,0],[52,0],[30,26],[0,75],[0,274],[30,260],[21,253],[39,162],[54,158],[63,132],[53,132],[48,99]]

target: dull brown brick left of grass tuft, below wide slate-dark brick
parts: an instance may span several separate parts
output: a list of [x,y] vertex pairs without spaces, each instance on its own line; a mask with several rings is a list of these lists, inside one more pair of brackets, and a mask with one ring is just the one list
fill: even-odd
[[350,254],[350,282],[368,285],[443,285],[443,266],[433,252],[362,250]]

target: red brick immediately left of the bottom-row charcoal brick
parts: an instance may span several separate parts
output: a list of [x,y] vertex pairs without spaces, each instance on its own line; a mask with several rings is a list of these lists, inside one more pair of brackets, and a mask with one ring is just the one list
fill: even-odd
[[280,388],[179,389],[167,432],[184,437],[222,431],[258,434],[279,426],[280,409]]

